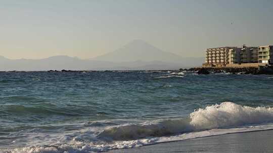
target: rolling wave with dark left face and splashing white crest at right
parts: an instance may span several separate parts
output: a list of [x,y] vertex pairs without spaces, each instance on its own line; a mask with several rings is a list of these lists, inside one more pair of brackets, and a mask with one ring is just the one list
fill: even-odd
[[142,124],[126,124],[110,127],[98,136],[113,140],[130,140],[148,136],[164,136],[177,133],[260,124],[273,121],[273,108],[248,107],[224,102],[195,110],[189,117],[156,120]]

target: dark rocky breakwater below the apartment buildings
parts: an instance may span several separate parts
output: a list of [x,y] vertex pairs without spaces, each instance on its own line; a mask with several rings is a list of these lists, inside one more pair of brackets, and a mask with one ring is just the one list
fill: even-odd
[[198,74],[228,72],[233,74],[273,74],[273,66],[259,67],[197,67],[187,69]]

